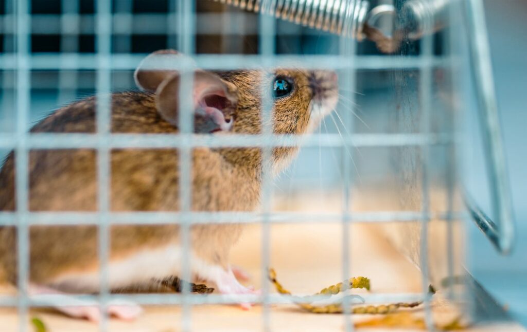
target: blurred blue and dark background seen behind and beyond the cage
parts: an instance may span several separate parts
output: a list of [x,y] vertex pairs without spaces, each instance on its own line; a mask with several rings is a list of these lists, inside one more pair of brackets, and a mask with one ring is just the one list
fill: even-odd
[[[114,0],[112,53],[116,56],[130,55],[130,61],[139,62],[145,54],[175,45],[174,38],[177,36],[166,33],[174,29],[174,17],[166,15],[174,12],[173,3],[166,0]],[[524,36],[527,2],[486,0],[484,3],[512,184],[516,245],[510,256],[501,256],[475,225],[468,225],[467,264],[476,280],[501,304],[507,304],[516,319],[527,324],[527,41]],[[197,1],[197,12],[196,53],[258,53],[258,15],[208,0]],[[9,55],[15,51],[13,17],[9,15],[12,13],[13,2],[0,0],[0,61],[4,63],[11,61]],[[89,61],[89,56],[96,51],[96,21],[92,0],[33,0],[31,13],[31,53],[41,56],[42,63],[42,67],[32,71],[31,76],[31,119],[34,123],[60,105],[94,94],[93,68],[81,66],[76,70],[60,72],[46,69],[45,54],[77,53],[86,55]],[[277,21],[277,31],[277,53],[339,52],[336,36],[283,21]],[[408,54],[416,47],[408,45]],[[368,41],[359,44],[358,53],[381,55]],[[130,69],[113,71],[112,89],[134,88],[132,73]],[[383,133],[397,130],[392,126],[396,108],[394,100],[401,96],[393,90],[394,79],[389,72],[359,72],[355,104],[343,100],[340,105],[341,108],[352,109],[357,116],[347,116],[343,123],[336,118],[327,119],[320,131]],[[12,132],[16,119],[15,72],[3,67],[0,82],[0,132]],[[406,83],[407,91],[415,89],[415,81],[409,79]],[[462,180],[477,202],[489,211],[482,140],[475,109],[467,112],[465,124],[468,135],[466,151],[462,154],[466,157]],[[0,151],[0,156],[6,153]],[[369,180],[375,181],[378,174],[389,172],[391,164],[387,150],[363,149],[352,154],[357,164],[353,177],[360,178],[359,183],[363,186]],[[284,197],[302,190],[313,190],[321,202],[333,199],[325,190],[341,185],[343,174],[339,173],[340,164],[343,158],[348,157],[342,151],[327,148],[302,150],[295,163],[277,180],[276,195]],[[432,167],[444,169],[442,164]],[[287,204],[284,203],[281,208],[288,209]]]

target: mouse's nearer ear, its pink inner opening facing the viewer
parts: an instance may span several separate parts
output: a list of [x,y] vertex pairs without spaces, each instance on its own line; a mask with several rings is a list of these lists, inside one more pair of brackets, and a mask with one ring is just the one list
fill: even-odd
[[[204,71],[194,72],[192,103],[194,107],[194,132],[211,133],[229,130],[238,106],[238,93],[234,84],[216,74]],[[161,116],[174,126],[179,120],[178,73],[165,79],[157,88],[156,104]]]

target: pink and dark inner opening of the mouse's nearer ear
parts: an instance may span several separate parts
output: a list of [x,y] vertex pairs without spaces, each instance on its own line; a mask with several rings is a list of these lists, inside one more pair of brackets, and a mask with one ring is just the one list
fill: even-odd
[[235,121],[236,100],[231,100],[222,89],[204,92],[197,104],[194,133],[231,130]]

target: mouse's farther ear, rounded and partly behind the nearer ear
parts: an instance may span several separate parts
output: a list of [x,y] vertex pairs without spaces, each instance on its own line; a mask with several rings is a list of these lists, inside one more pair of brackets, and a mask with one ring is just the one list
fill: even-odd
[[164,79],[177,73],[174,67],[175,62],[185,59],[192,68],[196,65],[190,58],[174,51],[173,49],[161,49],[145,57],[135,69],[135,84],[142,90],[154,92]]

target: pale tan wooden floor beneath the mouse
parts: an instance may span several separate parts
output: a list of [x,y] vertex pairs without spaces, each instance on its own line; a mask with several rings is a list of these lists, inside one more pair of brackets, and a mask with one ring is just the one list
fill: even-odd
[[[323,220],[321,220],[323,221]],[[321,288],[343,279],[341,270],[342,226],[338,223],[279,224],[271,227],[270,265],[275,268],[278,280],[294,294],[313,294]],[[422,289],[419,270],[383,236],[376,228],[366,224],[350,227],[351,273],[367,276],[372,283],[372,293],[420,293]],[[232,253],[232,262],[251,274],[249,284],[261,287],[260,271],[261,227],[248,226]],[[265,282],[267,282],[264,279]],[[274,291],[274,289],[271,290]],[[111,319],[110,331],[181,330],[181,308],[177,306],[150,306],[138,319],[128,322]],[[415,315],[422,309],[414,309]],[[437,321],[450,321],[458,315],[452,306],[442,303],[434,307]],[[97,326],[88,321],[71,319],[52,310],[32,309],[31,317],[40,318],[49,332],[96,331]],[[354,315],[354,320],[375,316]],[[2,331],[16,331],[16,309],[0,309]],[[264,318],[259,306],[244,311],[238,306],[194,306],[191,314],[193,331],[258,331]],[[294,305],[274,305],[267,322],[272,331],[341,331],[342,315],[310,314]],[[28,329],[28,330],[31,330]],[[377,330],[383,330],[377,329]],[[389,329],[393,331],[394,329]],[[405,329],[399,329],[401,331]],[[501,324],[471,327],[473,331],[524,331],[519,325]]]

